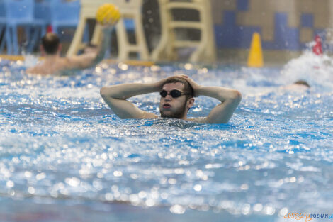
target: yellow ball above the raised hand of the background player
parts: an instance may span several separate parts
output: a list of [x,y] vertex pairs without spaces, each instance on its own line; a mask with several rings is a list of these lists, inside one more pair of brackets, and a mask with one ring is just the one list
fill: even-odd
[[119,21],[120,11],[113,4],[103,4],[97,9],[96,21],[101,25],[115,25]]

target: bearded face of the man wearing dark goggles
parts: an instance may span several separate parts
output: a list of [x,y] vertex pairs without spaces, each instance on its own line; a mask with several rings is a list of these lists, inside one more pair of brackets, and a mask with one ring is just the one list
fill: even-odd
[[159,101],[159,112],[161,117],[164,118],[187,118],[187,111],[193,106],[194,99],[186,99],[186,95],[181,95],[177,98],[173,98],[170,95],[172,90],[179,90],[184,93],[184,84],[181,82],[164,84],[162,90],[167,92],[165,97],[161,96]]

